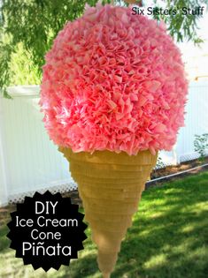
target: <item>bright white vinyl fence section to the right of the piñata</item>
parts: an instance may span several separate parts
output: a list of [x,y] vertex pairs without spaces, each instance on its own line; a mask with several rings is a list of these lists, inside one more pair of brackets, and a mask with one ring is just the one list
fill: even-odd
[[160,153],[162,161],[165,165],[173,165],[198,158],[199,154],[194,151],[195,135],[204,133],[208,133],[208,81],[191,82],[185,126],[179,131],[173,151]]

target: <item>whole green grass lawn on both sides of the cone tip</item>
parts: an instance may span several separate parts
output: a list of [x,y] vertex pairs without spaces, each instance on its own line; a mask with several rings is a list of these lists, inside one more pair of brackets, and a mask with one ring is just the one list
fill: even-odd
[[[96,246],[88,238],[70,267],[46,274],[15,258],[1,228],[1,278],[101,278]],[[89,229],[87,230],[90,236]],[[208,172],[164,183],[143,192],[139,211],[128,229],[112,278],[208,277]]]

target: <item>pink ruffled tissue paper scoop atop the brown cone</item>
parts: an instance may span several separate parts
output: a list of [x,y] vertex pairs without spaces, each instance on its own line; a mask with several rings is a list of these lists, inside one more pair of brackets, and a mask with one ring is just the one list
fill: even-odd
[[170,150],[188,82],[164,23],[96,4],[45,56],[39,104],[53,142],[73,152]]

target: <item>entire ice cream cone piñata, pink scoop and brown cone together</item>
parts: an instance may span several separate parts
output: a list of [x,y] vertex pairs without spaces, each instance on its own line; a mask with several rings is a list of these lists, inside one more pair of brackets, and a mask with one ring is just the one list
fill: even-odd
[[162,21],[99,1],[65,25],[45,58],[43,122],[70,162],[110,277],[158,151],[172,149],[184,124],[181,52]]

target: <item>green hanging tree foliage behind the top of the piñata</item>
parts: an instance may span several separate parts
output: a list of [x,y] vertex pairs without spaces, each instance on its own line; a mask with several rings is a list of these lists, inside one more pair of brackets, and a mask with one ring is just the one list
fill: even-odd
[[[30,55],[31,66],[37,67],[37,74],[41,78],[44,54],[50,49],[58,31],[63,28],[66,21],[80,17],[86,3],[95,5],[96,2],[97,0],[2,0],[0,7],[0,89],[4,97],[10,97],[6,92],[6,86],[11,84],[12,54],[18,51],[19,43]],[[114,0],[114,2],[122,3],[121,0]],[[154,2],[159,8],[159,1]],[[173,7],[193,9],[207,2],[208,0],[167,0],[166,9]],[[110,3],[110,0],[104,0],[103,4],[105,3]],[[144,5],[147,3],[148,1],[143,1]],[[177,15],[170,16],[155,14],[153,17],[166,21],[168,30],[176,41],[184,39],[196,43],[202,41],[196,32],[200,15],[183,16],[177,13]]]

